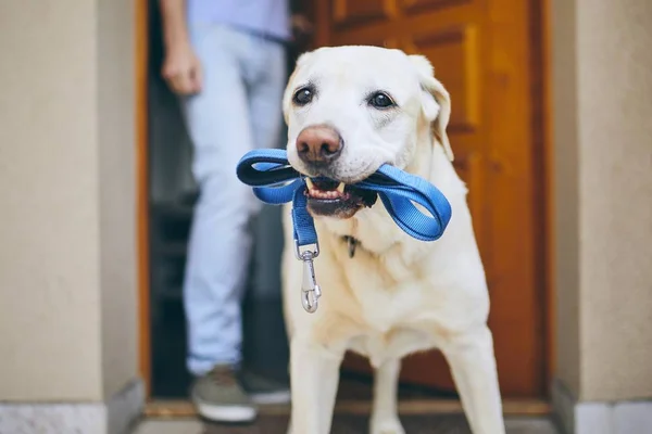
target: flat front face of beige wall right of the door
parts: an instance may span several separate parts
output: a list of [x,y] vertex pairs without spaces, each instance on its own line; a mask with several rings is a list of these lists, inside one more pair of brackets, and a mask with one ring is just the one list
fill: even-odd
[[652,2],[579,0],[581,398],[652,398]]

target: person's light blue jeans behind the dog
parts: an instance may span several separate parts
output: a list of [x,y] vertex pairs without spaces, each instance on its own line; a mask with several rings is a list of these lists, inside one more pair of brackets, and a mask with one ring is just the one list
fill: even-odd
[[190,24],[203,73],[183,102],[200,189],[188,245],[184,304],[187,366],[201,375],[241,358],[241,298],[251,256],[249,221],[260,210],[236,177],[249,150],[275,148],[283,127],[285,47],[212,24]]

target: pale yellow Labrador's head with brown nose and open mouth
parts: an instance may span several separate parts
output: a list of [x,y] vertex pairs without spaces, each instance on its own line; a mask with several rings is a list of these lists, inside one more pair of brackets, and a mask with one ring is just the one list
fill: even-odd
[[414,166],[419,143],[439,143],[452,159],[450,111],[449,94],[424,56],[360,46],[303,54],[284,115],[288,159],[309,177],[311,213],[350,218],[371,206],[375,195],[350,184],[386,163]]

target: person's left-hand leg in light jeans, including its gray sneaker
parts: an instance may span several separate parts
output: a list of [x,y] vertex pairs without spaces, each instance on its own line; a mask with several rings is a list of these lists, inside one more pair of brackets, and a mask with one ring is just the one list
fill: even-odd
[[[241,292],[249,265],[248,222],[255,209],[236,164],[254,146],[237,33],[220,26],[191,29],[202,63],[201,93],[184,101],[200,188],[188,244],[184,303],[193,398],[204,417],[242,421],[254,408],[234,381],[242,340]],[[210,373],[210,374],[209,374]],[[209,374],[209,375],[206,375]]]

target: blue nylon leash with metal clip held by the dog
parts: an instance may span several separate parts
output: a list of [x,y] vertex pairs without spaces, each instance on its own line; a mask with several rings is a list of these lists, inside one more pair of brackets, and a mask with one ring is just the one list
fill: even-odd
[[[308,311],[315,311],[321,290],[314,279],[312,260],[318,255],[318,241],[306,207],[304,177],[290,166],[286,151],[279,149],[248,152],[238,163],[237,175],[240,181],[253,187],[258,199],[267,204],[292,201],[297,257],[305,265],[303,306]],[[451,219],[451,205],[435,186],[397,167],[383,165],[355,187],[377,193],[399,228],[417,240],[438,240]],[[422,213],[414,203],[426,208],[430,216]],[[315,251],[300,251],[309,245],[315,245]]]

